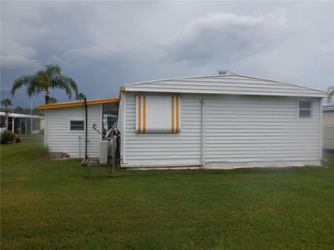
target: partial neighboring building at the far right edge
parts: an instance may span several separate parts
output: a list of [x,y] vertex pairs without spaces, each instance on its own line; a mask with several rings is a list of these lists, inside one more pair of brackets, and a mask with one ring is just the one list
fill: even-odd
[[324,149],[334,150],[334,104],[324,105],[323,107],[323,132],[322,140]]

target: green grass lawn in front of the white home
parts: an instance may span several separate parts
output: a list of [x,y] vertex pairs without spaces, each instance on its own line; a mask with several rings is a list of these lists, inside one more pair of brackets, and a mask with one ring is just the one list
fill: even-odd
[[1,249],[333,249],[327,167],[125,171],[1,145]]

